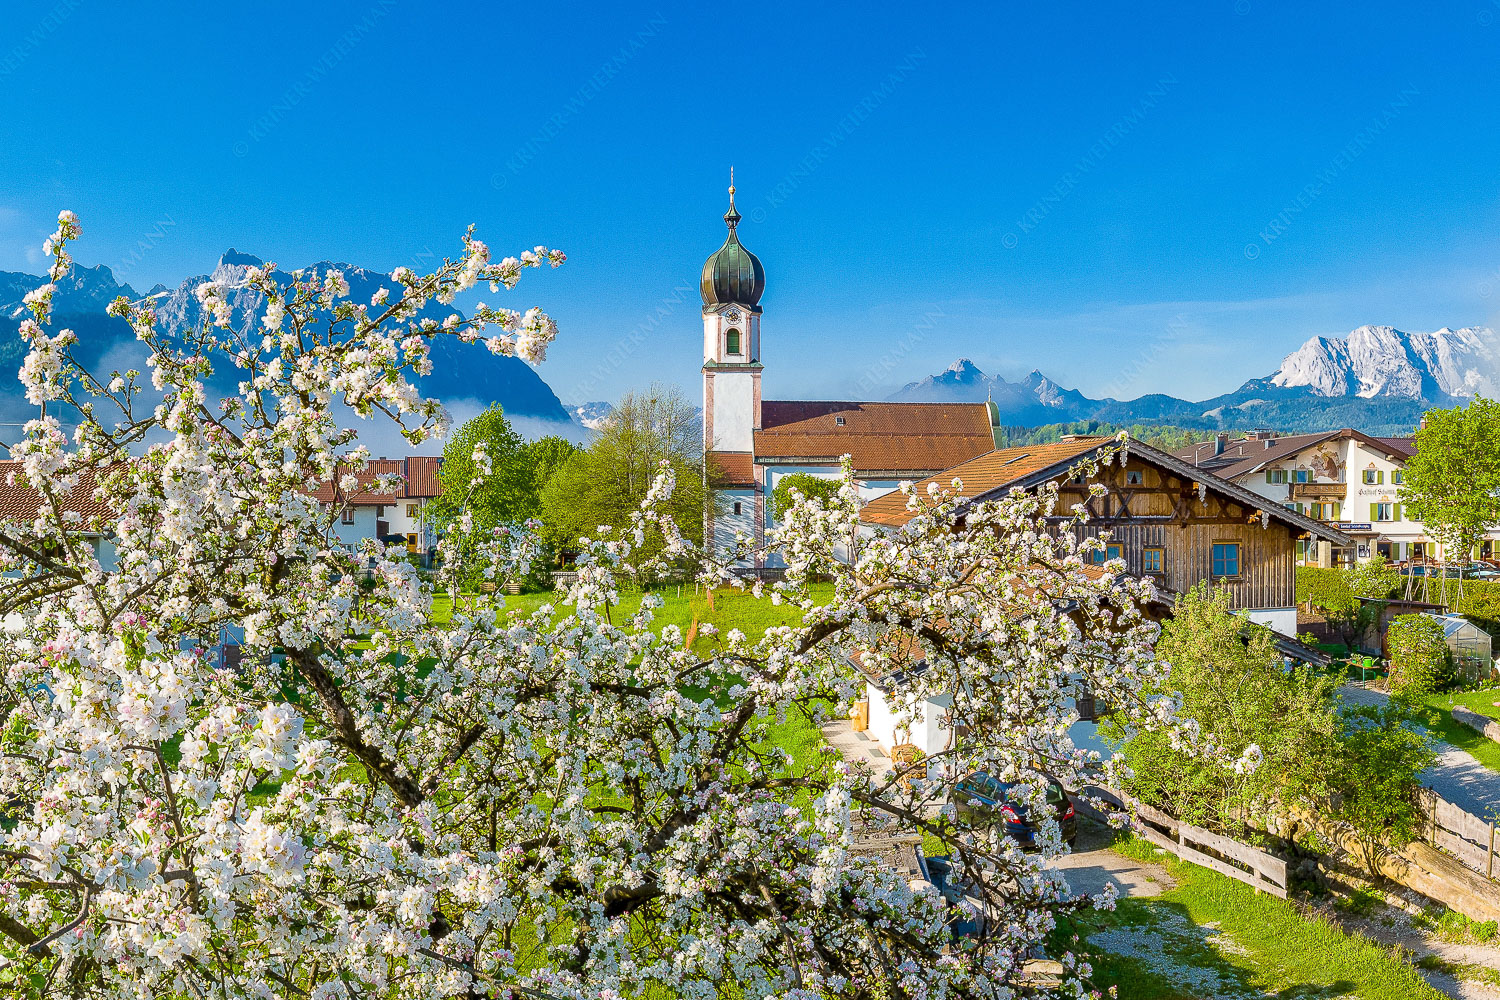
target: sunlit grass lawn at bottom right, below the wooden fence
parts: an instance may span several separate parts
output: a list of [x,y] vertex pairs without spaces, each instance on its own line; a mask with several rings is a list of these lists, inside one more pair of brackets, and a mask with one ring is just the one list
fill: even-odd
[[1074,928],[1094,952],[1095,985],[1118,987],[1120,1000],[1443,997],[1386,948],[1292,903],[1158,855],[1143,840],[1114,850],[1164,865],[1178,883],[1156,898],[1122,900],[1114,913],[1084,915]]

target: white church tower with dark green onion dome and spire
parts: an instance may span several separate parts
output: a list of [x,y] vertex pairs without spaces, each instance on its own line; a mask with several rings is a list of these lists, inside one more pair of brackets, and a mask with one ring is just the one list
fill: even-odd
[[729,235],[704,262],[704,457],[710,492],[704,540],[716,549],[736,532],[759,540],[765,496],[754,475],[754,432],[760,429],[760,294],[765,268],[735,232],[734,174],[729,180]]

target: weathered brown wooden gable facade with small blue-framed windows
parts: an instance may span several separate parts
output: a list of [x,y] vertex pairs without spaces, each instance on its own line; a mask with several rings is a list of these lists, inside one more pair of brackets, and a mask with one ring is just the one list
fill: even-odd
[[[1294,606],[1296,543],[1308,532],[1263,516],[1264,505],[1242,502],[1212,484],[1204,483],[1200,496],[1202,481],[1161,468],[1132,448],[1124,466],[1116,460],[1086,484],[1064,483],[1059,508],[1083,504],[1090,520],[1076,526],[1076,535],[1108,535],[1132,576],[1150,576],[1179,594],[1214,582],[1228,588],[1236,609]],[[1094,483],[1106,487],[1104,496],[1089,495]],[[1238,573],[1215,576],[1215,546],[1238,546]]]

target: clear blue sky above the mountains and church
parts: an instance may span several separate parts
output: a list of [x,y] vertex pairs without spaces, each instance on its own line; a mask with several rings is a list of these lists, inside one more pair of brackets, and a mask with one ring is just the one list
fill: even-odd
[[566,402],[696,394],[734,163],[770,397],[960,355],[1204,397],[1310,336],[1497,322],[1500,0],[436,7],[10,0],[0,270],[63,207],[142,289],[474,222],[568,252],[516,292]]

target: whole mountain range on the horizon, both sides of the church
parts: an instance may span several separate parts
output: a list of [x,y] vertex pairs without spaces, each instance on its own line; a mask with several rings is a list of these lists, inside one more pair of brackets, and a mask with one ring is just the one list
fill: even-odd
[[[207,274],[182,280],[176,288],[156,285],[138,292],[116,279],[104,265],[74,267],[52,297],[52,328],[78,333],[78,358],[98,370],[142,367],[144,352],[130,328],[105,315],[117,295],[156,300],[159,322],[170,334],[182,334],[201,319],[194,289],[216,280],[230,288],[236,324],[255,322],[264,307],[258,292],[244,286],[244,271],[262,261],[230,249]],[[315,270],[339,268],[350,283],[351,298],[369,301],[380,288],[392,286],[381,271],[351,264],[321,261]],[[276,273],[291,282],[291,274]],[[36,274],[0,271],[0,318],[20,318],[21,300],[44,283]],[[446,318],[452,307],[432,303],[423,315]],[[20,337],[0,336],[0,421],[34,415],[20,382],[8,378],[24,354]],[[14,367],[12,367],[14,366]],[[237,375],[220,376],[228,390]],[[597,429],[612,406],[588,402],[564,408],[552,388],[525,361],[496,357],[480,345],[441,337],[434,349],[434,373],[420,379],[420,390],[444,402],[498,402],[506,412],[542,421],[572,423]],[[1010,382],[987,375],[960,358],[946,370],[896,391],[892,400],[982,402],[993,400],[1000,421],[1038,426],[1098,420],[1112,424],[1174,424],[1196,429],[1323,430],[1359,427],[1371,433],[1406,433],[1432,406],[1461,405],[1476,393],[1494,397],[1500,391],[1500,337],[1488,327],[1442,328],[1406,333],[1394,327],[1359,327],[1346,337],[1312,337],[1288,354],[1264,378],[1252,378],[1238,390],[1203,400],[1161,393],[1120,400],[1090,399],[1041,372]]]

